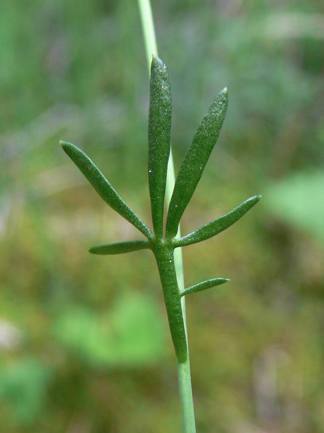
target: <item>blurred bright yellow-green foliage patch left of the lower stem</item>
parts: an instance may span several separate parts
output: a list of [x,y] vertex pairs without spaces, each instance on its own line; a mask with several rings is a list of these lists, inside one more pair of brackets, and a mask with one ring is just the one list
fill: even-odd
[[164,351],[162,320],[149,297],[136,293],[118,300],[105,314],[73,306],[57,318],[58,338],[90,364],[108,367],[149,365]]

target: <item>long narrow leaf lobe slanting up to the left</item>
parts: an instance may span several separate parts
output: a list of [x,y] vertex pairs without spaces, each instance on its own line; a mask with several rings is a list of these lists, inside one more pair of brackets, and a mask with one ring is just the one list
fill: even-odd
[[143,235],[151,238],[152,232],[149,227],[146,226],[140,217],[124,202],[91,159],[81,149],[71,143],[60,141],[60,144],[64,152],[70,156],[75,165],[86,176],[100,197],[116,212],[123,216],[125,220],[139,229]]

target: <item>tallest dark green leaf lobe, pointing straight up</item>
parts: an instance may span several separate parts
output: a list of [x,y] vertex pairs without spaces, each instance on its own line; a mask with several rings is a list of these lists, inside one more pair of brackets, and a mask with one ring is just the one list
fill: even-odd
[[172,95],[168,70],[153,56],[149,83],[149,195],[154,233],[163,237],[166,173],[170,155]]

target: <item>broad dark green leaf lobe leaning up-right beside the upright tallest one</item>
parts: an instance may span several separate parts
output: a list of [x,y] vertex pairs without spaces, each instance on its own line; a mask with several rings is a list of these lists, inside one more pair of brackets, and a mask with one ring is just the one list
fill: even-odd
[[198,126],[175,181],[166,220],[166,237],[174,237],[178,232],[181,216],[192,194],[194,194],[203,169],[218,139],[225,118],[227,103],[228,95],[225,87],[213,100]]

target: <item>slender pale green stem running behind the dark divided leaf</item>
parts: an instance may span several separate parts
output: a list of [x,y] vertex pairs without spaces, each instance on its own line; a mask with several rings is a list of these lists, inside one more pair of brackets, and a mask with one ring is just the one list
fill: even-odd
[[[151,8],[150,0],[138,0],[138,4],[140,8],[143,36],[144,36],[144,42],[146,48],[147,65],[150,73],[152,54],[158,55],[154,21],[152,16],[152,8]],[[175,186],[175,169],[173,165],[173,157],[172,157],[172,149],[171,149],[170,157],[168,161],[168,174],[167,174],[166,189],[165,189],[165,201],[167,207],[169,206],[174,186]],[[180,224],[179,224],[179,229],[176,237],[177,238],[181,237]],[[183,273],[181,248],[176,248],[174,250],[174,260],[175,260],[175,271],[177,275],[178,287],[181,291],[184,290],[184,273]],[[182,310],[182,317],[184,320],[184,330],[186,334],[187,347],[188,347],[186,306],[185,306],[184,296],[181,297],[181,310]],[[192,389],[191,389],[189,353],[187,356],[187,361],[177,362],[177,365],[178,365],[178,380],[179,380],[183,431],[184,433],[196,433],[195,419],[194,419],[194,402],[192,398]]]

